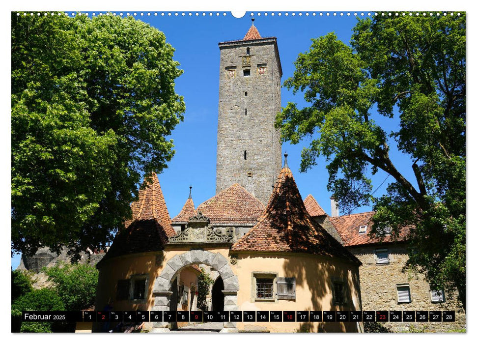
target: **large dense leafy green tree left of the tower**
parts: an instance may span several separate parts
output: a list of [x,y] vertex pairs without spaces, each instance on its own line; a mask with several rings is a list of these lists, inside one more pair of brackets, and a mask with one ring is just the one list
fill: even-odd
[[104,247],[183,119],[161,31],[103,15],[12,13],[12,253]]

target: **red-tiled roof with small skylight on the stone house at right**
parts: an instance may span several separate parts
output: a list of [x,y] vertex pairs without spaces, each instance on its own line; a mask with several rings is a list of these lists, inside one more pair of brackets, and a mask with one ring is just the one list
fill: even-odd
[[[377,244],[382,242],[403,242],[406,241],[406,236],[409,234],[410,226],[401,229],[400,235],[394,239],[391,235],[384,237],[371,238],[369,231],[373,225],[372,217],[374,211],[366,213],[343,215],[339,217],[332,217],[330,221],[337,229],[339,235],[343,238],[344,246],[358,246],[366,244]],[[367,226],[365,233],[359,233],[361,226]]]

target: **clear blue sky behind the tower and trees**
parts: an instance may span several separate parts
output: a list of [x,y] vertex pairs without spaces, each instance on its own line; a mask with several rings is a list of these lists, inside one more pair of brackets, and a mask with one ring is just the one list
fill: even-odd
[[[87,12],[87,11],[85,11]],[[114,11],[112,11],[114,12]],[[88,12],[92,16],[93,12]],[[103,12],[104,13],[104,12]],[[121,11],[115,12],[117,15]],[[127,12],[123,12],[123,16]],[[130,12],[131,14],[135,12]],[[189,196],[189,186],[192,185],[192,196],[196,206],[215,195],[216,163],[217,163],[217,121],[219,105],[219,42],[242,39],[252,22],[262,37],[277,37],[281,58],[283,76],[281,82],[293,75],[293,62],[299,53],[309,50],[311,38],[317,38],[329,32],[335,32],[338,39],[349,44],[352,29],[357,23],[354,12],[247,12],[242,18],[234,18],[230,12],[136,12],[136,19],[144,21],[163,31],[168,43],[175,48],[174,59],[180,63],[184,73],[176,79],[175,91],[184,96],[186,112],[184,121],[176,126],[171,139],[175,145],[175,156],[168,164],[168,168],[158,174],[159,182],[168,206],[171,218],[176,216]],[[224,13],[226,14],[224,16]],[[265,15],[267,13],[267,15]],[[288,13],[288,15],[285,15]],[[299,13],[302,13],[300,16]],[[307,16],[306,13],[309,13]],[[316,15],[313,16],[313,13]],[[329,13],[329,16],[326,14]],[[99,15],[99,12],[95,12]],[[361,12],[358,13],[359,18]],[[299,107],[305,106],[302,94],[294,95],[286,88],[281,89],[281,105],[296,102]],[[391,131],[398,125],[397,120],[383,119],[375,116],[378,124]],[[392,140],[392,139],[391,139]],[[331,214],[330,197],[327,190],[328,172],[326,161],[320,158],[317,165],[306,173],[299,172],[301,150],[309,143],[305,140],[297,145],[282,144],[282,152],[288,153],[290,167],[300,194],[306,198],[309,194],[318,201],[321,207]],[[391,157],[398,170],[414,181],[410,158],[397,152],[393,141]],[[386,180],[387,173],[378,172],[371,176],[373,187],[376,189]],[[386,185],[392,182],[390,177],[379,187],[374,194],[380,196],[386,192]],[[356,212],[370,211],[369,206],[354,210]],[[342,215],[342,214],[340,214]],[[12,259],[12,267],[19,264],[19,257]]]

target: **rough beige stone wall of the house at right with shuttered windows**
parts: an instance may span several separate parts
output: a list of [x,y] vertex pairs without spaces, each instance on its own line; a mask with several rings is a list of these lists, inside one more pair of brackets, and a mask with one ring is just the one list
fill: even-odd
[[[360,267],[360,284],[364,311],[455,311],[455,322],[383,323],[393,332],[448,332],[465,329],[465,313],[459,307],[455,293],[445,291],[445,302],[433,303],[430,286],[424,276],[401,271],[408,259],[405,245],[381,244],[347,248],[363,263]],[[388,249],[389,264],[376,264],[376,249]],[[409,284],[410,303],[397,302],[397,284]]]

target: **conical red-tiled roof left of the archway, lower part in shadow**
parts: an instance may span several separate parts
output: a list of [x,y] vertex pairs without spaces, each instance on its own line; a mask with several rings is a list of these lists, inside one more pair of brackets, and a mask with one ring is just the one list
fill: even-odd
[[160,251],[175,235],[169,212],[156,173],[144,178],[139,200],[131,203],[133,218],[125,221],[125,229],[117,232],[103,259],[132,253]]

